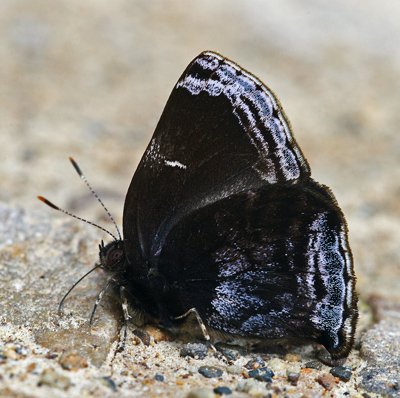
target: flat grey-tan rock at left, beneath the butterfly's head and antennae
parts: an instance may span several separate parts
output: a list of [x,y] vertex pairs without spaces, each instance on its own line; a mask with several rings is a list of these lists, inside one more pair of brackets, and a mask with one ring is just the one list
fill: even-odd
[[96,259],[94,231],[86,233],[70,218],[43,223],[40,214],[4,204],[0,204],[0,219],[3,323],[28,327],[37,344],[55,352],[74,348],[99,366],[118,336],[120,316],[115,300],[105,297],[93,327],[88,325],[105,281],[102,272],[94,272],[78,285],[65,302],[64,315],[58,315],[63,295]]

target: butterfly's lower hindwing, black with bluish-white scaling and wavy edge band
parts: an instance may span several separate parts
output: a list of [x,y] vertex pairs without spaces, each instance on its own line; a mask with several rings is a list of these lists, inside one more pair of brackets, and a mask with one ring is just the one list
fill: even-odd
[[354,275],[343,216],[321,189],[262,187],[182,219],[158,259],[180,297],[168,311],[195,306],[222,332],[314,338],[343,354],[357,315]]

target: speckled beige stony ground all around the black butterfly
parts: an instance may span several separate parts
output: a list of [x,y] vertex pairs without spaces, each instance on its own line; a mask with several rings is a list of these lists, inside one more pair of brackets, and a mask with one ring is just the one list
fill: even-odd
[[[232,397],[400,396],[399,15],[395,0],[3,1],[0,396],[211,397],[218,386]],[[120,223],[169,92],[206,49],[278,94],[314,178],[346,215],[361,309],[347,382],[332,380],[325,365],[307,367],[315,360],[309,346],[239,350],[230,366],[212,355],[182,358],[187,341],[163,341],[157,330],[145,346],[130,328],[118,353],[121,313],[112,297],[88,326],[100,271],[57,313],[107,238],[36,196],[109,226],[70,166],[73,156]],[[275,373],[268,386],[248,379],[245,364],[257,355]],[[221,369],[221,379],[202,376],[203,365]],[[297,386],[290,370],[300,374]]]

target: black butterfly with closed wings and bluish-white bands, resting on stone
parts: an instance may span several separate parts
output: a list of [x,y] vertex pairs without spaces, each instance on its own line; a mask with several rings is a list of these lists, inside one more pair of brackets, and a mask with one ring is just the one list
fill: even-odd
[[[79,171],[79,169],[78,169]],[[272,91],[203,52],[165,106],[100,267],[125,318],[314,340],[347,357],[357,321],[344,216],[310,177]]]

